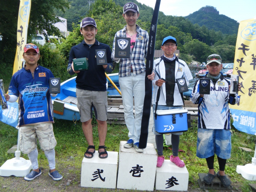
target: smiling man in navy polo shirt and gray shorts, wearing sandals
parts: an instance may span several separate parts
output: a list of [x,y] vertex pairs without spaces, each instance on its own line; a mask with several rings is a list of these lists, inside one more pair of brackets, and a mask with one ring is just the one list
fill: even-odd
[[[84,36],[82,43],[72,47],[69,53],[68,73],[77,74],[76,77],[76,98],[79,109],[84,136],[88,148],[84,153],[85,158],[92,158],[95,153],[92,136],[92,108],[98,123],[99,132],[99,157],[107,158],[108,153],[105,147],[107,135],[107,79],[105,71],[111,73],[113,70],[111,50],[106,44],[95,39],[97,25],[94,19],[86,17],[81,21],[80,32]],[[107,65],[97,65],[95,50],[106,49]],[[73,59],[87,58],[88,70],[75,71]]]

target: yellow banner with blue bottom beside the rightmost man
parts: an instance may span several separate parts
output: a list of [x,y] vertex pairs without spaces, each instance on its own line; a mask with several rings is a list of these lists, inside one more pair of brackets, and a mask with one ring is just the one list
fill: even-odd
[[241,21],[236,40],[233,74],[242,86],[238,105],[229,105],[236,129],[256,135],[256,20]]

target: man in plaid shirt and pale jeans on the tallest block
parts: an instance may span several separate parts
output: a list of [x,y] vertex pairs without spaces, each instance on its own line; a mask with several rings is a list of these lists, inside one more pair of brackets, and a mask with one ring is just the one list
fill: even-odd
[[[124,144],[125,148],[134,147],[137,152],[143,152],[139,148],[140,128],[145,96],[145,59],[148,50],[148,32],[136,24],[139,18],[139,7],[129,2],[124,5],[123,17],[126,26],[118,31],[115,37],[131,38],[130,58],[115,58],[115,39],[113,42],[112,59],[119,62],[119,85],[122,92],[124,105],[124,119],[129,130],[129,140]],[[148,76],[153,80],[155,73]],[[133,115],[133,96],[135,118]]]

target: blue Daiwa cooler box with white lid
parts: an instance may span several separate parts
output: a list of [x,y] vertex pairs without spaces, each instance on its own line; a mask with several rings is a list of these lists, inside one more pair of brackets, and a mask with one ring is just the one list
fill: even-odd
[[[155,111],[154,111],[155,113]],[[156,132],[177,133],[188,131],[187,109],[156,110],[155,129]]]

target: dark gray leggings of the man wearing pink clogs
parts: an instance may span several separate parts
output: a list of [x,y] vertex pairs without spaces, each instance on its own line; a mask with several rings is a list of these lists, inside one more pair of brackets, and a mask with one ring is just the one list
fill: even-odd
[[[180,143],[180,135],[174,135],[172,134],[172,155],[178,156],[179,151],[179,143]],[[161,156],[163,155],[163,148],[164,148],[164,137],[163,135],[156,135],[156,149],[157,149],[157,155]]]

